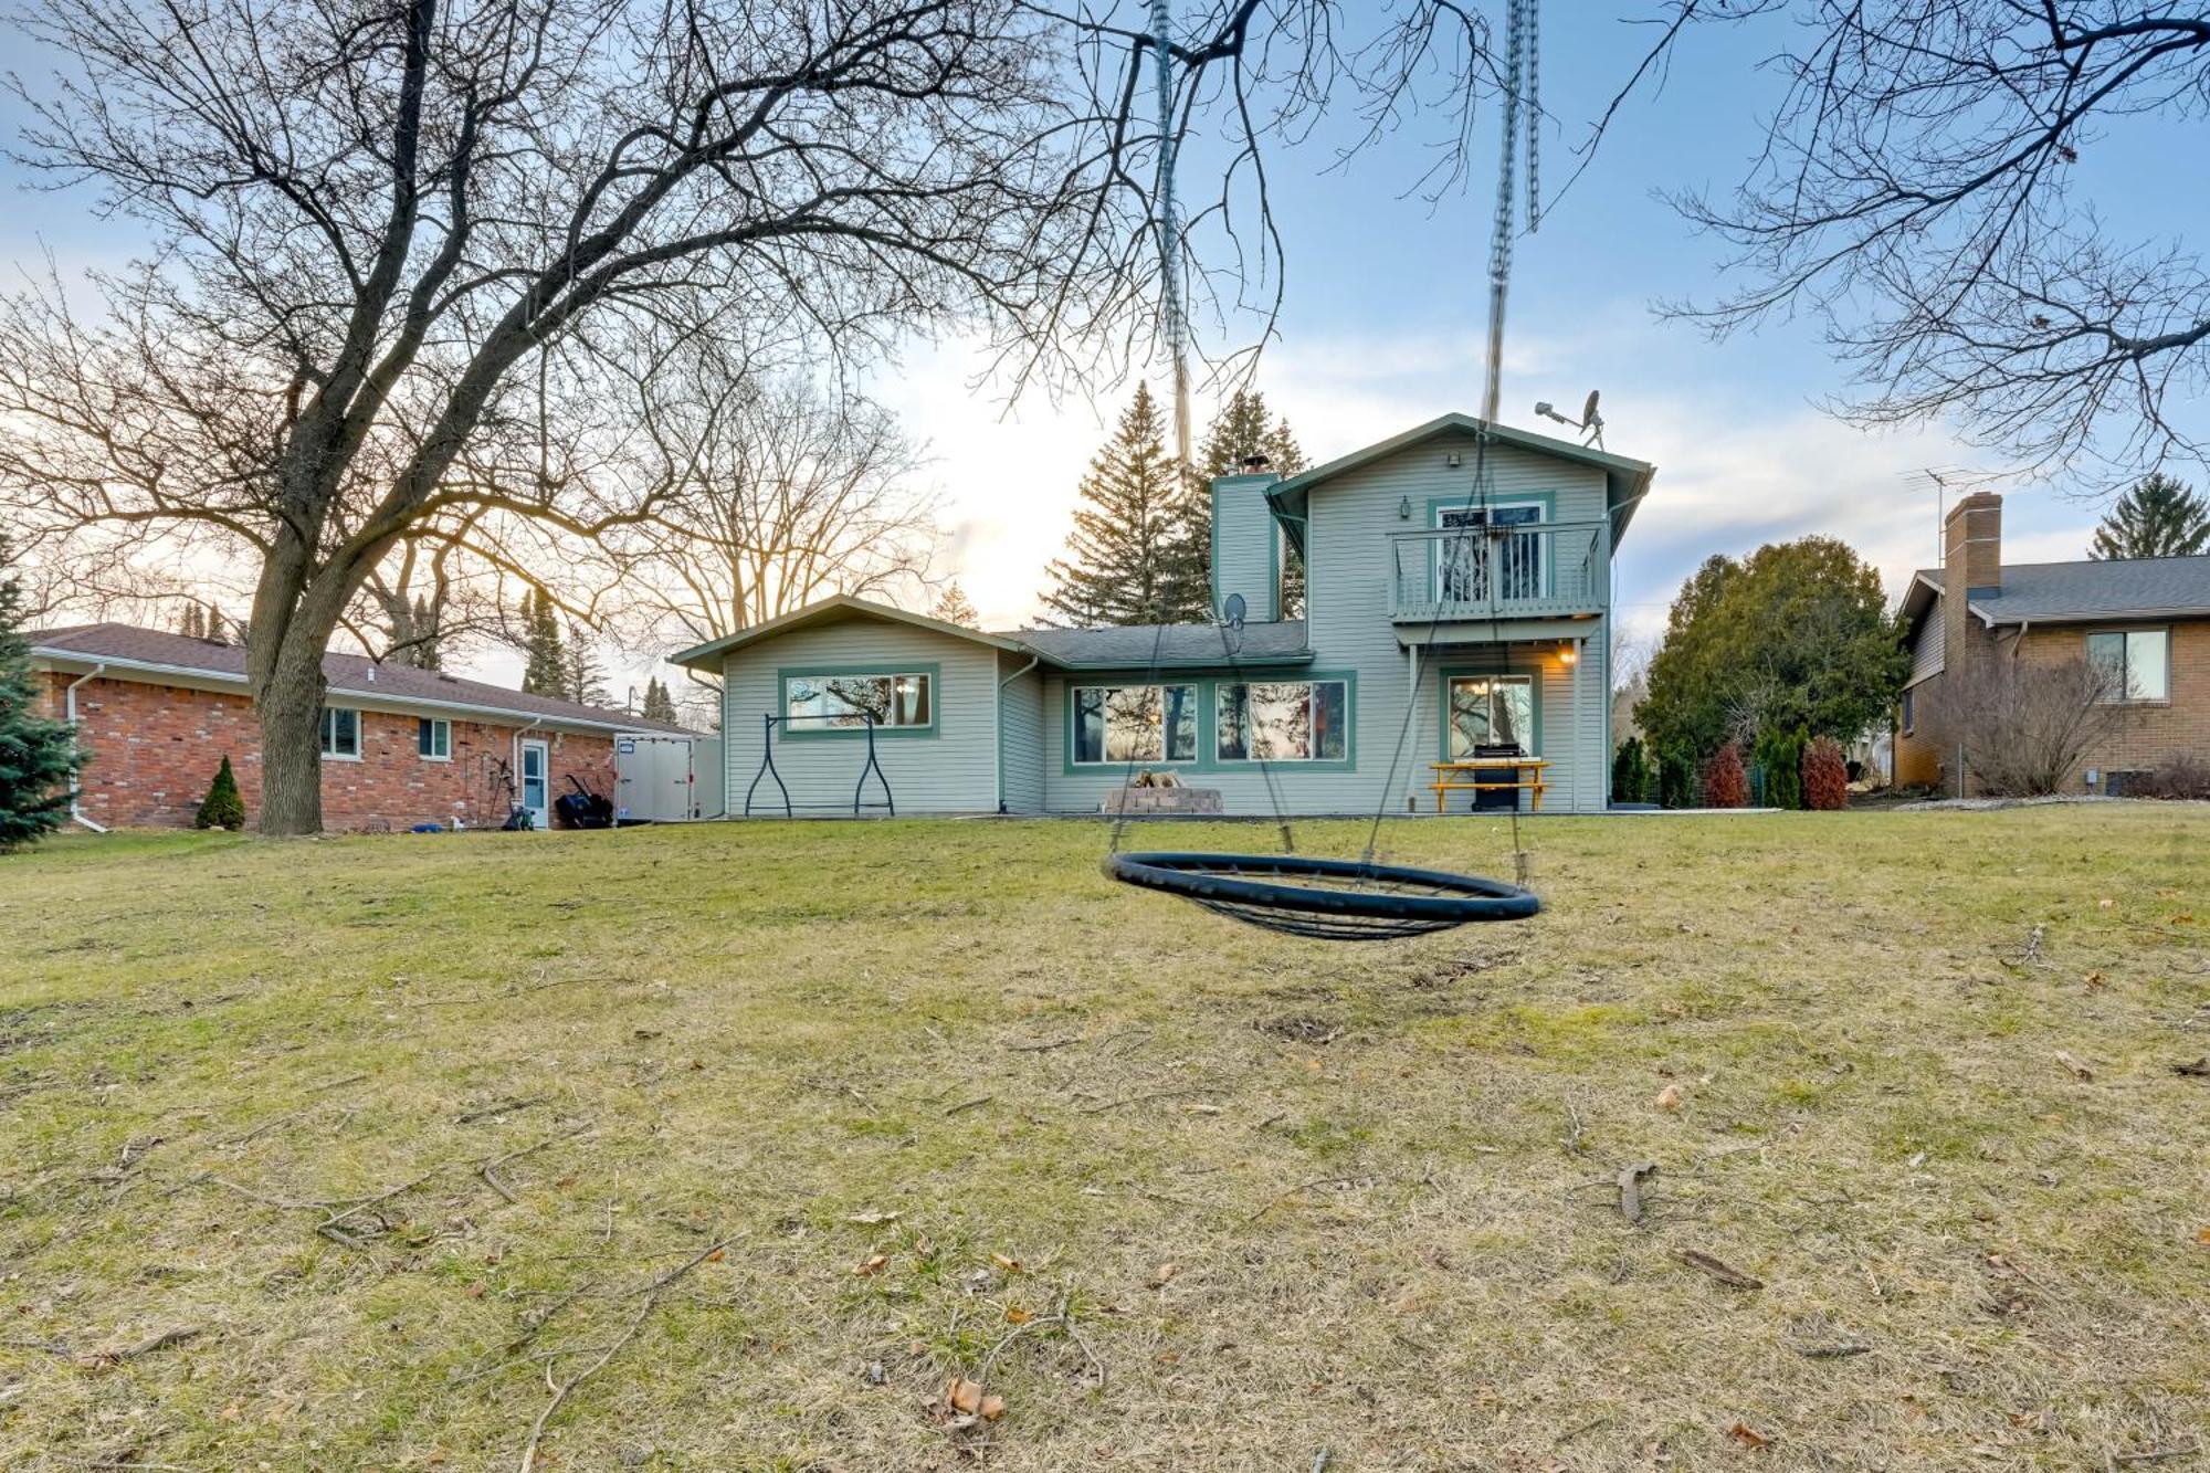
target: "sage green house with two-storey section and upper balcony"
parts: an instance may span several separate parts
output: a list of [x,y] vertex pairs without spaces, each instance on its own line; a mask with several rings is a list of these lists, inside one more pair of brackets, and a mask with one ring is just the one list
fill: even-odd
[[1132,767],[1229,814],[1436,812],[1430,763],[1476,750],[1545,763],[1543,812],[1600,812],[1611,555],[1651,476],[1450,414],[1216,480],[1216,624],[979,633],[833,597],[674,659],[720,677],[732,814],[747,790],[754,814],[882,812],[884,787],[902,814],[1094,814]]

